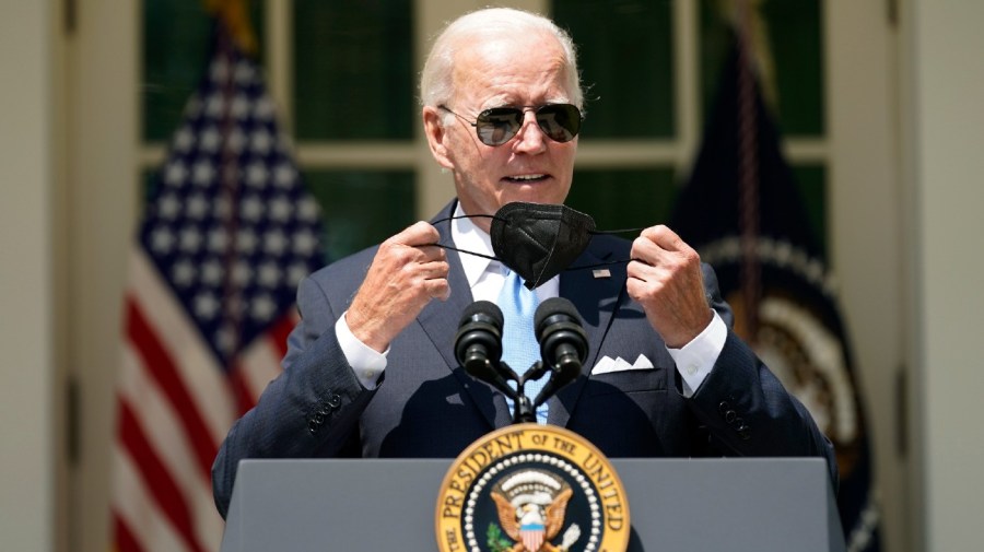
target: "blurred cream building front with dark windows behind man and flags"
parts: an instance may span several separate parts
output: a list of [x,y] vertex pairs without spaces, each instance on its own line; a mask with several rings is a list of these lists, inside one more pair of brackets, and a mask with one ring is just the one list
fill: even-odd
[[[206,74],[204,3],[0,7],[3,550],[114,545],[128,255]],[[417,74],[443,23],[484,4],[246,2],[276,117],[321,210],[325,258],[453,196],[421,133]],[[600,228],[667,222],[714,104],[733,2],[499,4],[551,15],[578,45],[587,120],[569,203]],[[976,549],[984,4],[751,4],[766,103],[853,343],[870,525],[881,550]]]

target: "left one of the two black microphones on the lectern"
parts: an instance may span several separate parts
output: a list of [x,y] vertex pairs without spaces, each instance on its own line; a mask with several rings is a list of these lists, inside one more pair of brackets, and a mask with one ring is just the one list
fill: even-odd
[[502,357],[502,310],[490,301],[477,301],[461,314],[455,336],[455,359],[471,377],[488,381],[515,397],[499,371]]

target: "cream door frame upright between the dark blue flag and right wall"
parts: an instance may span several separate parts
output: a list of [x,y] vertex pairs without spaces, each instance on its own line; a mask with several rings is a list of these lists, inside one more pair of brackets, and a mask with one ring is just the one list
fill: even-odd
[[[912,548],[907,522],[910,450],[898,447],[898,381],[907,303],[898,172],[898,74],[882,2],[824,2],[831,261],[866,408],[886,551]],[[842,474],[843,477],[843,474]]]

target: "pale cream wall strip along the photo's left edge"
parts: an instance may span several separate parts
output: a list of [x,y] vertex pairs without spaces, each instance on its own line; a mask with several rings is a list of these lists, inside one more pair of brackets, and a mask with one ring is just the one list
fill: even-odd
[[55,504],[48,2],[0,3],[0,549],[50,550]]

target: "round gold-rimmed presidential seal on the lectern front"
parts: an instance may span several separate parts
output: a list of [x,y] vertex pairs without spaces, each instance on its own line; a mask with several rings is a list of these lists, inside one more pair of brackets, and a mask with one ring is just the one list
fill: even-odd
[[442,552],[624,552],[629,503],[594,445],[523,423],[485,435],[452,463],[435,530]]

